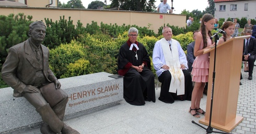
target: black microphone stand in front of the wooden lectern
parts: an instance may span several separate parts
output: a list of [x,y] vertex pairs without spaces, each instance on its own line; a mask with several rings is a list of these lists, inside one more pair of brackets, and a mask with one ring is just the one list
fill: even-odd
[[201,128],[205,129],[206,130],[206,133],[212,133],[212,132],[215,132],[215,133],[226,133],[226,132],[220,132],[220,131],[213,131],[213,128],[211,126],[212,124],[212,111],[213,111],[213,92],[214,92],[214,82],[215,82],[215,63],[216,63],[216,47],[217,47],[217,40],[219,39],[219,35],[218,33],[221,33],[222,31],[218,31],[217,33],[214,33],[213,36],[211,36],[210,38],[215,39],[215,46],[214,46],[214,64],[213,64],[213,86],[212,86],[212,94],[211,94],[211,109],[210,109],[210,119],[209,119],[209,126],[207,128],[204,128],[202,125],[194,122],[194,120],[192,120],[192,123],[193,124],[196,124],[198,126],[200,126]]

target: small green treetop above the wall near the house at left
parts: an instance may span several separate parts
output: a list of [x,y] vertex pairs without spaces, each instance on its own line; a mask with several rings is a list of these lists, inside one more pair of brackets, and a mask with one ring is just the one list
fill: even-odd
[[59,8],[85,8],[81,0],[70,0],[66,4],[59,1]]

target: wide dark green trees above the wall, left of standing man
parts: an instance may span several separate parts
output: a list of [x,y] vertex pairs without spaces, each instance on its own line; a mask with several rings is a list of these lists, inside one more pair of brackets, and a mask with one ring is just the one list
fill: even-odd
[[132,11],[153,11],[155,6],[155,0],[110,0],[112,3],[110,7],[120,7],[124,10]]

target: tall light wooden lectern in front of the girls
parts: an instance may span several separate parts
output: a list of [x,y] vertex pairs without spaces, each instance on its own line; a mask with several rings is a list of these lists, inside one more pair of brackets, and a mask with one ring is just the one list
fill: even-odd
[[[215,81],[211,127],[230,132],[239,123],[243,117],[237,116],[237,102],[239,93],[239,83],[242,64],[243,39],[249,36],[239,36],[224,42],[216,47],[215,62]],[[199,120],[199,123],[209,125],[212,86],[213,86],[213,67],[214,50],[210,52],[210,69],[208,77],[208,91],[206,103],[206,115]]]

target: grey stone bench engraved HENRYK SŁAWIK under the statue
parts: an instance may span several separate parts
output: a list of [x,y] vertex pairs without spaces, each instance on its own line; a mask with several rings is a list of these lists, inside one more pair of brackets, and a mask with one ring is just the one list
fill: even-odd
[[[123,78],[110,75],[100,72],[59,79],[68,94],[64,120],[119,104],[123,100]],[[0,133],[39,127],[41,116],[25,98],[13,97],[11,87],[0,91]]]

